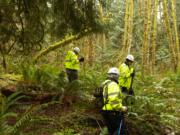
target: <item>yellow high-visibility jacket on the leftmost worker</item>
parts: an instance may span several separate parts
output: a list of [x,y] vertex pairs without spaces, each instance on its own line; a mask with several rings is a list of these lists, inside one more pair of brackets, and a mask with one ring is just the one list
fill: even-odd
[[73,51],[68,51],[65,57],[65,68],[79,70],[79,59]]

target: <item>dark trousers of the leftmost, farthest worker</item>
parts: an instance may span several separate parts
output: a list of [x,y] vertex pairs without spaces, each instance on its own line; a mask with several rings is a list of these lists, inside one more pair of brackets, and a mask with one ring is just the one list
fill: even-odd
[[66,68],[66,74],[67,74],[69,82],[72,82],[72,81],[78,79],[78,71],[77,70]]

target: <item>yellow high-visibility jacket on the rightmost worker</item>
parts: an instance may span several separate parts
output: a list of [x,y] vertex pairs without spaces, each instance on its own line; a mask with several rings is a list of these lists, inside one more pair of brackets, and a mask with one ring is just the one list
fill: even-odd
[[132,67],[129,67],[125,63],[121,64],[119,67],[119,85],[120,87],[126,87],[128,90],[131,86],[131,73],[133,73],[134,69]]

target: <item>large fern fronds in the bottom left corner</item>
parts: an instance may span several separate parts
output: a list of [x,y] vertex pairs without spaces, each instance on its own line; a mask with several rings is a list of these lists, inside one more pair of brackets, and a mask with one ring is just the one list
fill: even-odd
[[[10,108],[15,105],[15,103],[24,98],[25,96],[21,95],[21,92],[16,92],[10,95],[9,97],[5,97],[2,94],[0,95],[0,133],[1,135],[19,135],[19,128],[23,126],[27,121],[30,120],[31,115],[34,111],[38,109],[39,106],[31,106],[14,124],[9,125],[8,118],[14,117],[17,118],[17,114],[10,111]],[[41,108],[41,107],[39,107]]]

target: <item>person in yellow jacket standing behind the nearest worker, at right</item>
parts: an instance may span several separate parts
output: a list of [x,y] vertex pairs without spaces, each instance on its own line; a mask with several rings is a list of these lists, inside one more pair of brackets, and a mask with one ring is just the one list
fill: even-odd
[[132,88],[132,81],[135,76],[135,70],[133,68],[134,57],[131,54],[128,54],[126,60],[119,67],[119,85],[123,93],[134,95]]

